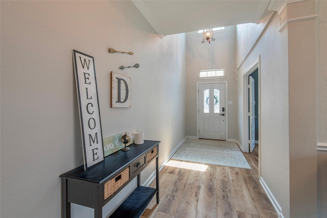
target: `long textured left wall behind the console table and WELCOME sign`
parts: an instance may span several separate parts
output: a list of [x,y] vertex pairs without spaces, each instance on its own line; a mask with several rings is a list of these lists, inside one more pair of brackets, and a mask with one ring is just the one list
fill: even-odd
[[[186,135],[185,34],[161,39],[130,1],[1,1],[3,218],[60,217],[59,175],[83,164],[73,49],[95,58],[104,138],[137,128],[162,163]],[[110,71],[132,78],[131,108],[110,108]]]

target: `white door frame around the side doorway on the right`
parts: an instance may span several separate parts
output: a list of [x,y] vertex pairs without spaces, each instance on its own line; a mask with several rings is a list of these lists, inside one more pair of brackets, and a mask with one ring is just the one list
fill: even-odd
[[243,78],[243,151],[244,152],[249,152],[249,146],[248,146],[248,140],[247,137],[249,135],[249,120],[248,120],[248,105],[249,105],[249,96],[248,96],[248,84],[249,84],[249,75],[252,74],[252,72],[256,69],[258,69],[258,117],[259,117],[259,122],[258,122],[258,140],[259,140],[259,160],[258,160],[258,172],[259,172],[259,178],[261,176],[260,172],[260,165],[261,165],[261,72],[260,72],[260,55],[259,58],[254,61],[252,65],[250,65],[246,70],[242,73],[242,78]]

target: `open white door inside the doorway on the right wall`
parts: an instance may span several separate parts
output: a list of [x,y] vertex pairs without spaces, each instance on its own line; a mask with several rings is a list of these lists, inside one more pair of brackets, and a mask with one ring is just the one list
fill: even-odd
[[249,76],[249,119],[250,119],[250,152],[255,147],[255,100],[254,100],[254,79]]

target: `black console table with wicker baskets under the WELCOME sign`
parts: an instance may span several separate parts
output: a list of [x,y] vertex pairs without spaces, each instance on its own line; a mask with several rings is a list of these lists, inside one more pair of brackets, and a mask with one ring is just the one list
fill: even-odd
[[[156,195],[159,203],[159,142],[144,140],[131,144],[129,151],[118,151],[105,161],[84,171],[83,165],[60,175],[62,217],[71,217],[71,203],[94,208],[94,217],[102,218],[102,207],[137,176],[137,187],[110,217],[139,217]],[[140,174],[156,160],[156,188],[141,186]]]

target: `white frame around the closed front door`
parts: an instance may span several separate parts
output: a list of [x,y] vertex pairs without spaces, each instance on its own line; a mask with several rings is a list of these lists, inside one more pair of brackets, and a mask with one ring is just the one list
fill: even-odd
[[228,100],[227,81],[197,82],[196,83],[196,138],[199,138],[199,84],[225,84],[225,140],[228,141]]

